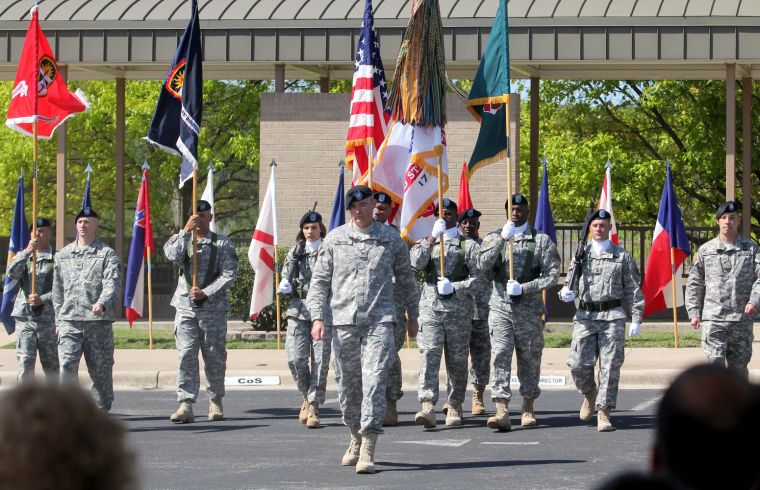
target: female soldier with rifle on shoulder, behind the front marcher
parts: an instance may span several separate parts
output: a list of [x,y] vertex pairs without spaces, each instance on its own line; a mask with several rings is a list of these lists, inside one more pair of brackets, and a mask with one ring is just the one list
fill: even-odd
[[304,214],[300,226],[297,244],[288,252],[282,268],[282,280],[277,292],[290,295],[285,353],[298,391],[303,395],[298,419],[306,427],[315,429],[319,427],[319,406],[325,402],[332,336],[328,329],[323,340],[312,340],[311,317],[303,300],[309,292],[311,270],[327,230],[322,224],[322,215],[316,211]]

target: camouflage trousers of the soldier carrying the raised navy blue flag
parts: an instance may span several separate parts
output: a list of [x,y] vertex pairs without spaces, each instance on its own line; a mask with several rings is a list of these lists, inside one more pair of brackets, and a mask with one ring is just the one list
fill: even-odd
[[174,317],[174,341],[179,351],[177,401],[198,399],[201,386],[198,351],[203,356],[206,394],[224,396],[224,373],[227,370],[227,313],[193,313],[177,309]]

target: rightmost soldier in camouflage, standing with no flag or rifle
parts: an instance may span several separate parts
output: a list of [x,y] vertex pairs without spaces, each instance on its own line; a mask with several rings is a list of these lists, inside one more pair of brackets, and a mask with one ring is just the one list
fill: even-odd
[[752,322],[760,305],[760,247],[739,235],[738,206],[723,203],[715,215],[720,232],[699,247],[686,285],[686,310],[702,326],[702,350],[710,363],[747,377]]

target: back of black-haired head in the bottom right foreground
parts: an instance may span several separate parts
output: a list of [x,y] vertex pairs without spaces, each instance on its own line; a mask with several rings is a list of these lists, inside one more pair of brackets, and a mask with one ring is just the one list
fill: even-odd
[[722,366],[681,373],[660,402],[652,470],[688,488],[760,488],[757,387]]

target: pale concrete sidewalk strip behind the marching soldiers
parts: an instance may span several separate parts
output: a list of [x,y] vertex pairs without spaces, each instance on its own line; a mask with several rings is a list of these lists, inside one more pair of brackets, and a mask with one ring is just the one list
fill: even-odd
[[[564,385],[558,388],[573,389],[566,360],[569,349],[545,349],[541,363],[542,376],[564,377]],[[750,363],[750,378],[760,381],[760,342],[754,343],[754,355]],[[419,352],[416,349],[401,350],[404,387],[417,386]],[[621,388],[663,388],[683,369],[704,362],[704,354],[699,348],[630,348],[625,350],[625,363],[621,372]],[[87,370],[82,361],[80,377],[89,383]],[[202,364],[202,361],[201,361]],[[12,386],[16,382],[17,361],[15,351],[0,349],[0,386]],[[177,352],[173,349],[144,350],[120,349],[115,354],[114,386],[131,389],[174,389],[177,376]],[[37,372],[42,369],[38,367]],[[516,369],[513,368],[513,374]],[[285,360],[284,350],[273,349],[231,349],[228,351],[227,376],[279,376],[277,386],[263,388],[295,389],[293,378]],[[445,385],[445,371],[441,370],[441,385]],[[335,388],[332,373],[328,387]],[[203,386],[203,382],[201,383]],[[230,387],[237,389],[237,387]],[[240,387],[239,389],[256,389]]]

